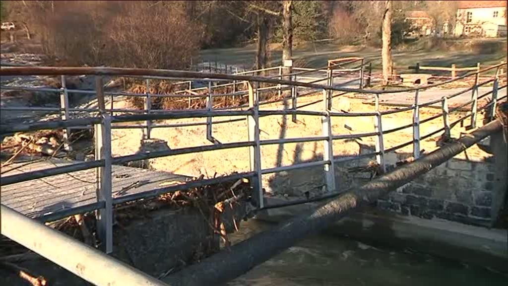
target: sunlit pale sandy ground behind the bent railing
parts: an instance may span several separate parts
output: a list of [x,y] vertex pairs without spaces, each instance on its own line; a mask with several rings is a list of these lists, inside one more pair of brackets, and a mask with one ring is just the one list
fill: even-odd
[[[298,103],[304,105],[315,100],[320,100],[321,95],[309,96],[299,99]],[[374,111],[371,104],[364,104],[365,100],[353,98],[335,98],[333,101],[333,108],[335,110],[346,111]],[[370,100],[368,100],[370,101]],[[320,110],[323,103],[315,103],[303,110]],[[282,109],[280,104],[271,104],[264,106],[263,109]],[[393,108],[393,107],[390,107]],[[388,109],[388,108],[387,108]],[[435,108],[422,108],[421,120],[433,116],[440,112],[440,109]],[[451,115],[450,121],[459,118],[460,115]],[[239,117],[235,117],[238,119]],[[220,118],[220,120],[235,119]],[[479,116],[479,123],[482,120],[482,115]],[[321,136],[321,118],[315,116],[298,116],[297,123],[291,121],[291,116],[284,120],[283,116],[269,116],[260,119],[261,140],[278,139],[278,138],[296,138],[296,137],[311,137]],[[190,122],[205,122],[206,119],[188,119],[188,120],[167,120],[161,123],[175,124],[175,123],[190,123]],[[412,112],[405,111],[396,113],[394,115],[387,115],[383,117],[384,130],[393,129],[404,124],[412,122]],[[373,132],[373,117],[344,117],[334,118],[332,120],[334,134],[355,134]],[[466,124],[467,125],[467,124]],[[429,123],[421,125],[421,135],[426,135],[443,126],[442,118],[435,119]],[[453,137],[459,137],[464,128],[456,126],[452,130]],[[115,144],[113,146],[114,156],[134,154],[141,148],[141,138],[143,130],[141,129],[114,129],[113,138]],[[193,127],[174,127],[174,128],[156,128],[152,130],[152,138],[162,139],[168,142],[171,149],[195,147],[201,145],[211,145],[206,139],[206,126],[193,126]],[[436,147],[435,137],[423,140],[421,145],[422,149],[426,152],[434,150]],[[214,124],[213,136],[221,143],[247,141],[247,124],[246,121]],[[406,128],[384,137],[385,148],[391,148],[396,145],[402,144],[406,141],[412,140],[412,128]],[[333,144],[334,156],[354,156],[363,152],[362,150],[373,149],[375,137],[364,137],[358,140],[335,140]],[[362,147],[362,148],[361,148]],[[280,145],[265,145],[261,149],[262,168],[272,168],[276,166],[291,165],[299,162],[308,162],[321,160],[323,154],[323,142],[305,142],[298,144],[284,144]],[[411,156],[412,145],[398,150],[397,154],[387,154],[387,162],[394,164],[397,160]],[[482,160],[488,154],[482,151],[477,146],[468,150],[467,156],[469,159]],[[459,157],[466,155],[461,154]],[[356,166],[365,164],[365,160],[354,161],[347,164],[338,164],[338,169],[349,166]],[[215,175],[227,175],[233,172],[242,172],[249,170],[249,151],[248,148],[236,148],[228,150],[208,151],[201,153],[185,154],[178,156],[170,156],[165,158],[156,158],[150,160],[150,166],[157,170],[169,171],[175,174],[187,176],[205,176],[212,177]],[[338,174],[338,176],[343,176]],[[283,178],[282,178],[283,177]],[[282,179],[281,179],[282,178]],[[322,167],[304,168],[300,170],[285,172],[281,174],[267,174],[263,175],[264,187],[268,192],[278,192],[276,189],[282,185],[300,186],[297,189],[304,190],[313,189],[316,192],[321,191],[319,188],[322,181],[323,173]],[[288,182],[288,180],[290,182]],[[348,178],[343,178],[342,181],[348,181]]]

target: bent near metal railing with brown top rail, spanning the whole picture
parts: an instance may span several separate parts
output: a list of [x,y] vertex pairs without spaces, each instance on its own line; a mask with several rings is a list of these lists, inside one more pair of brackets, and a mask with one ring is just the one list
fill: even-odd
[[[363,63],[363,59],[361,60],[361,66],[359,69],[355,69],[355,71],[361,72],[363,75],[364,68],[367,66]],[[197,72],[187,72],[187,71],[172,71],[172,70],[146,70],[146,69],[122,69],[122,68],[66,68],[66,67],[11,67],[5,68],[2,67],[0,69],[1,75],[94,75],[97,78],[97,89],[95,91],[99,103],[98,111],[100,115],[98,117],[88,117],[81,119],[68,119],[58,120],[58,121],[49,121],[49,122],[38,122],[38,123],[28,123],[28,124],[3,124],[0,126],[0,134],[12,134],[14,132],[22,132],[22,131],[31,131],[31,130],[39,130],[39,129],[69,129],[73,127],[79,126],[94,126],[95,135],[95,147],[96,147],[96,158],[93,161],[80,162],[66,166],[60,166],[55,168],[49,168],[44,170],[36,170],[31,171],[30,173],[23,173],[19,175],[11,175],[5,176],[1,178],[1,185],[9,185],[14,183],[19,183],[27,180],[34,180],[39,178],[45,178],[49,176],[59,175],[70,173],[78,170],[85,170],[90,168],[96,168],[98,170],[99,180],[98,180],[98,197],[97,203],[89,204],[86,206],[81,206],[75,209],[69,209],[66,211],[58,212],[60,217],[68,216],[71,214],[82,213],[87,211],[99,210],[98,214],[98,234],[101,240],[101,246],[104,251],[107,253],[112,251],[112,217],[113,217],[113,205],[121,204],[129,201],[133,201],[140,198],[153,197],[156,195],[176,191],[178,189],[187,189],[201,185],[208,185],[218,182],[224,182],[229,180],[237,180],[239,178],[249,178],[253,195],[252,198],[255,201],[257,208],[263,209],[264,199],[263,199],[263,186],[262,186],[262,176],[269,173],[277,173],[281,171],[288,171],[298,168],[307,168],[307,167],[315,167],[315,166],[323,166],[324,178],[326,182],[326,190],[327,192],[335,191],[335,176],[334,176],[334,164],[338,162],[345,162],[350,160],[356,160],[360,158],[367,157],[375,157],[377,163],[380,167],[386,170],[386,162],[385,155],[390,152],[394,152],[398,149],[404,148],[409,145],[413,145],[413,156],[415,159],[420,157],[420,141],[433,136],[439,132],[444,132],[445,136],[450,136],[450,129],[455,126],[458,122],[464,121],[467,118],[471,118],[471,128],[475,128],[475,123],[477,120],[478,112],[482,109],[490,108],[488,111],[488,116],[490,120],[492,120],[495,116],[494,110],[495,105],[500,100],[505,100],[506,96],[499,97],[498,90],[505,89],[506,84],[499,86],[499,80],[502,77],[505,77],[506,74],[499,74],[499,68],[505,63],[489,67],[487,69],[483,69],[477,72],[467,73],[457,77],[456,79],[451,79],[444,81],[439,84],[452,82],[461,78],[466,78],[469,76],[474,76],[477,80],[475,80],[474,85],[471,88],[464,89],[463,91],[452,94],[449,96],[442,97],[438,100],[433,100],[429,102],[420,102],[419,98],[421,93],[430,87],[436,87],[439,84],[429,84],[415,88],[405,88],[396,91],[387,91],[387,90],[365,90],[365,89],[356,89],[356,88],[344,88],[341,86],[330,84],[317,84],[317,83],[309,83],[302,82],[296,80],[285,80],[278,79],[272,77],[261,77],[261,76],[246,76],[246,75],[231,75],[231,74],[208,74],[208,73],[197,73]],[[486,82],[478,81],[478,73],[485,72],[490,69],[496,69],[496,73],[492,79],[489,79]],[[295,70],[295,68],[293,68]],[[280,71],[280,69],[279,69]],[[318,70],[318,72],[327,73],[326,78],[324,80],[329,80],[329,78],[333,78],[334,73],[333,69],[326,70]],[[299,75],[302,72],[316,72],[316,70],[296,70],[296,73]],[[281,73],[281,72],[279,72]],[[293,75],[295,75],[293,74]],[[236,82],[246,82],[246,96],[248,97],[247,110],[238,110],[236,108],[231,108],[229,110],[213,110],[210,108],[210,104],[207,104],[207,109],[205,110],[157,110],[157,112],[148,112],[145,110],[145,114],[124,114],[124,115],[111,115],[111,111],[113,109],[106,108],[105,104],[105,93],[103,91],[102,78],[104,76],[144,76],[144,77],[156,77],[156,78],[198,78],[205,80],[230,80],[233,81],[233,84]],[[288,76],[282,75],[281,76]],[[279,77],[277,75],[277,77]],[[294,79],[294,78],[293,78]],[[333,81],[332,81],[333,82]],[[479,95],[478,88],[481,85],[485,85],[492,82],[493,88],[490,92]],[[292,106],[292,108],[287,110],[265,110],[261,109],[260,106],[262,104],[260,100],[260,94],[262,93],[261,88],[259,87],[260,83],[265,84],[273,84],[274,90],[284,90],[285,87],[292,89],[293,87],[299,89],[309,89],[310,92],[321,92],[322,99],[318,102],[322,102],[322,108],[320,110],[301,110],[302,106]],[[361,83],[362,84],[362,83]],[[208,89],[211,90],[210,84]],[[461,106],[455,106],[450,108],[448,106],[448,100],[464,94],[466,92],[471,91],[471,100],[461,104]],[[340,92],[339,94],[334,95],[334,92]],[[384,94],[388,93],[400,93],[400,92],[415,92],[415,101],[414,104],[410,107],[401,108],[401,109],[392,109],[392,110],[381,110],[380,109],[380,97]],[[332,101],[336,96],[343,95],[344,93],[364,93],[364,94],[372,94],[375,99],[374,110],[371,112],[336,112],[332,110]],[[63,93],[65,96],[65,92]],[[208,93],[205,96],[208,96],[208,100],[212,101],[215,94],[212,96],[212,93]],[[299,94],[295,93],[294,96],[297,97]],[[488,104],[479,107],[478,101],[480,99],[486,98],[488,95],[491,95],[490,101]],[[145,95],[149,98],[150,95]],[[153,95],[151,95],[153,96]],[[224,96],[224,95],[222,95]],[[292,95],[293,96],[293,95]],[[425,120],[420,119],[420,108],[424,106],[430,106],[431,104],[440,103],[442,112],[438,113],[438,115],[432,116]],[[305,104],[308,106],[308,104]],[[449,115],[452,112],[460,111],[460,108],[471,105],[471,110],[467,112],[467,114],[455,122],[449,122]],[[4,108],[2,108],[4,109]],[[61,110],[65,111],[65,107]],[[386,115],[391,115],[398,112],[405,112],[408,110],[412,110],[413,112],[413,120],[411,123],[404,123],[404,125],[386,130],[382,126],[382,119]],[[155,111],[155,110],[153,110]],[[282,138],[282,139],[269,139],[262,140],[260,138],[260,126],[259,121],[260,118],[265,116],[273,116],[273,115],[305,115],[305,116],[317,116],[321,117],[322,120],[322,134],[320,136],[312,136],[312,137],[300,137],[300,138]],[[135,155],[126,155],[126,156],[118,156],[113,157],[111,153],[111,129],[117,126],[118,123],[125,122],[136,122],[136,121],[145,121],[151,122],[156,120],[170,120],[170,119],[189,119],[189,118],[206,118],[206,123],[211,126],[211,119],[215,117],[246,117],[247,120],[247,134],[248,140],[242,142],[232,142],[232,143],[220,143],[218,141],[214,141],[213,145],[205,145],[205,146],[197,146],[197,147],[187,147],[187,148],[179,148],[179,149],[171,149],[166,151],[156,151],[150,153],[143,154],[135,154]],[[374,125],[373,132],[368,133],[360,133],[360,134],[334,134],[332,130],[332,121],[334,118],[339,117],[374,117]],[[430,122],[435,119],[443,118],[443,126],[442,128],[438,128],[435,131],[421,135],[420,134],[420,125],[425,122]],[[235,119],[238,120],[238,119]],[[244,119],[240,119],[244,120]],[[227,122],[227,121],[225,121]],[[215,122],[214,124],[220,124]],[[148,128],[148,124],[146,126],[141,126],[140,128]],[[165,125],[168,126],[182,126],[182,125]],[[128,128],[130,128],[129,126]],[[139,126],[135,126],[138,128]],[[384,135],[396,132],[398,130],[404,128],[413,128],[413,138],[408,142],[404,142],[398,146],[394,146],[386,149],[384,146],[385,140]],[[154,125],[151,126],[154,128]],[[210,136],[213,134],[208,133],[207,130],[207,138],[210,139]],[[347,158],[336,158],[334,157],[333,152],[333,141],[339,139],[348,139],[348,138],[360,138],[365,136],[375,136],[375,152],[368,154],[361,154],[358,156],[352,156]],[[211,138],[213,139],[213,137]],[[313,141],[321,141],[324,145],[323,150],[323,160],[305,162],[305,163],[297,163],[288,166],[279,166],[273,168],[263,168],[261,164],[261,147],[265,145],[273,145],[273,144],[288,144],[295,142],[313,142]],[[150,159],[150,158],[158,158],[165,156],[173,156],[180,154],[189,154],[196,152],[204,152],[204,151],[213,151],[213,150],[225,150],[231,148],[249,148],[249,163],[250,170],[244,173],[233,174],[224,177],[218,177],[213,179],[206,179],[201,181],[192,181],[186,182],[177,186],[170,187],[162,187],[157,188],[148,192],[142,192],[137,194],[131,194],[121,197],[113,198],[111,196],[111,167],[113,164],[123,164],[132,161]],[[340,184],[340,182],[339,182]],[[55,218],[56,214],[50,215],[50,217]]]

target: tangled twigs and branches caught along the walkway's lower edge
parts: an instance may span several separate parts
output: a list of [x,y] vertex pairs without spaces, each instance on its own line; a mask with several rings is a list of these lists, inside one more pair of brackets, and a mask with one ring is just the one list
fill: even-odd
[[[204,176],[196,178],[195,181],[202,179],[204,179]],[[231,231],[228,229],[228,225],[231,224],[238,230],[238,219],[242,219],[245,214],[245,211],[238,212],[238,209],[242,208],[237,208],[235,205],[241,205],[242,202],[248,201],[250,194],[250,185],[246,180],[240,179],[119,204],[114,207],[114,227],[123,228],[131,221],[148,219],[151,212],[161,209],[171,211],[195,210],[201,213],[204,221],[210,226],[210,233],[213,236],[222,238],[225,245],[229,247],[227,234]],[[93,212],[47,222],[46,225],[92,247],[97,247],[101,243],[96,236],[96,217]],[[199,262],[211,254],[213,253],[200,252],[199,255],[192,258],[192,261],[185,261],[184,264]],[[0,269],[16,275],[16,277],[29,282],[31,285],[47,285],[51,281],[47,281],[44,276],[39,275],[44,273],[36,273],[21,266],[24,265],[22,264],[24,261],[40,259],[41,256],[38,254],[6,237],[0,237]]]

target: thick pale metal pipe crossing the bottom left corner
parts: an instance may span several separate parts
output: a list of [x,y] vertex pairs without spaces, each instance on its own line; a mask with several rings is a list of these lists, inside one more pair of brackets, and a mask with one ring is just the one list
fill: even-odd
[[168,286],[37,220],[0,206],[2,235],[97,286]]

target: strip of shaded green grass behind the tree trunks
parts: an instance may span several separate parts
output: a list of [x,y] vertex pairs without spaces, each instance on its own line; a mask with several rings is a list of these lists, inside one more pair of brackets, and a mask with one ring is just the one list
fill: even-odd
[[[425,49],[421,45],[414,44],[406,49],[395,49],[392,51],[394,64],[397,72],[407,72],[408,66],[414,66],[417,62],[422,66],[450,67],[456,64],[457,67],[473,67],[477,63],[482,65],[498,64],[506,61],[506,39],[485,39],[485,40],[454,40],[449,41],[452,48]],[[467,46],[471,42],[481,42],[483,50],[472,50]],[[463,43],[464,49],[461,50]],[[490,45],[496,44],[504,48],[489,49]],[[487,49],[485,49],[487,47]],[[299,45],[294,48],[295,61],[304,61],[307,67],[324,67],[330,59],[344,58],[346,56],[363,56],[367,61],[372,61],[373,69],[381,68],[381,51],[377,48],[362,46],[341,46],[334,43],[311,43]],[[250,69],[253,66],[256,55],[256,48],[253,45],[242,48],[208,49],[201,51],[201,59],[205,62],[218,62],[227,65],[236,65]],[[281,50],[275,48],[270,50],[270,65],[280,65]]]

